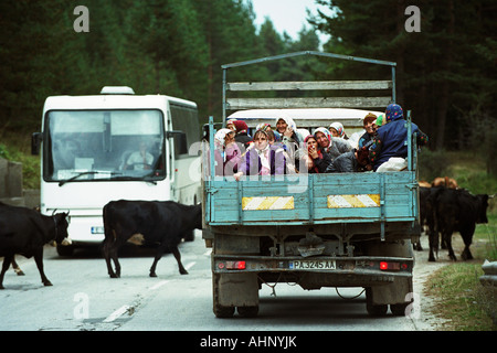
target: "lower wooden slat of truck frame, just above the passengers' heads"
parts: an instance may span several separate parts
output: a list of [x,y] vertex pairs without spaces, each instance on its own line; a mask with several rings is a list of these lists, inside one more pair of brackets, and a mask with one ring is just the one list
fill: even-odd
[[308,97],[308,98],[228,98],[228,109],[277,108],[378,108],[387,107],[391,97]]

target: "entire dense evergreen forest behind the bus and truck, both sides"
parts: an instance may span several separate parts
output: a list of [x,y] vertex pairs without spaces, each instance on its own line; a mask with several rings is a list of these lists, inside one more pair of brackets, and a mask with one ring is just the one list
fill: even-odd
[[[222,64],[317,51],[319,30],[331,36],[321,43],[325,52],[398,63],[398,103],[413,111],[432,149],[495,156],[494,0],[316,2],[332,15],[307,14],[308,26],[294,40],[269,19],[257,29],[250,0],[2,0],[0,139],[9,131],[39,130],[46,96],[97,94],[105,85],[194,100],[201,122],[220,117]],[[419,32],[404,28],[411,4],[421,12]],[[89,32],[73,28],[77,6],[89,10]],[[237,75],[245,81],[385,77],[368,65],[306,57],[239,69],[230,78]]]

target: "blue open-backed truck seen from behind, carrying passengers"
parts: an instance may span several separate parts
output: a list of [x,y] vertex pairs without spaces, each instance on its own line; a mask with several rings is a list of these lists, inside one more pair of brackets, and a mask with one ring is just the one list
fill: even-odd
[[[229,83],[228,71],[304,55],[348,60],[391,68],[387,81]],[[293,115],[310,131],[340,121],[361,128],[372,108],[395,101],[395,63],[322,52],[297,52],[226,64],[223,69],[223,124],[233,117],[250,128],[275,124],[278,111]],[[261,98],[263,90],[367,92],[366,97]],[[371,92],[383,96],[371,97]],[[232,98],[235,92],[236,97]],[[254,98],[253,92],[258,97]],[[385,94],[387,92],[387,94]],[[241,98],[243,94],[252,94]],[[296,94],[297,95],[297,94]],[[361,110],[364,109],[366,110]],[[226,116],[226,110],[237,110]],[[410,114],[408,136],[411,137]],[[355,118],[356,117],[356,118]],[[326,121],[326,122],[325,122]],[[326,124],[326,125],[325,125]],[[305,290],[362,287],[366,309],[403,315],[412,302],[417,240],[419,195],[415,137],[408,138],[408,167],[399,172],[297,173],[232,176],[214,174],[210,118],[209,158],[204,158],[202,237],[211,250],[213,312],[218,318],[258,314],[263,285],[298,284]],[[273,285],[272,285],[273,284]]]

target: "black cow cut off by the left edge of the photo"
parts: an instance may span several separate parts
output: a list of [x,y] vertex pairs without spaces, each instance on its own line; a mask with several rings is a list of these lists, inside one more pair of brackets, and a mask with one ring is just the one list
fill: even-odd
[[0,203],[0,256],[4,257],[0,289],[15,254],[34,256],[43,285],[52,286],[43,272],[43,246],[52,240],[62,243],[67,237],[67,225],[66,213],[44,216],[34,210]]

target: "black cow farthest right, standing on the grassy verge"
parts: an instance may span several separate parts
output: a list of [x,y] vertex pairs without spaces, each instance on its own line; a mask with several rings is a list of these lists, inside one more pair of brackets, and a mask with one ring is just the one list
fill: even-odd
[[461,255],[464,260],[473,259],[469,245],[477,223],[488,223],[488,195],[473,195],[466,190],[441,189],[436,194],[436,228],[446,243],[448,257],[456,260],[452,248],[452,233],[458,231],[464,242]]

